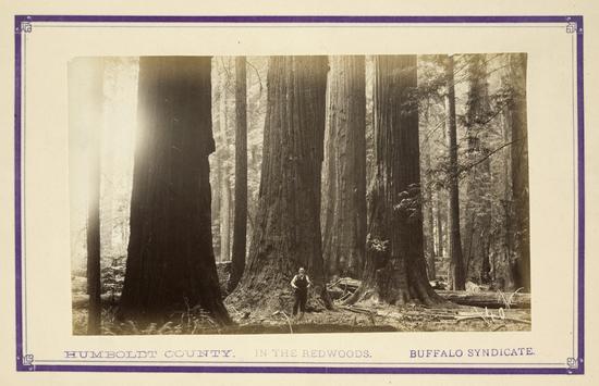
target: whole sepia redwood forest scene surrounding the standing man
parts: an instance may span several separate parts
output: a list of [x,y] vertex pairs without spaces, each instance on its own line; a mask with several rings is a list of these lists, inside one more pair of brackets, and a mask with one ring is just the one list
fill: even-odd
[[526,71],[72,60],[73,334],[529,331]]

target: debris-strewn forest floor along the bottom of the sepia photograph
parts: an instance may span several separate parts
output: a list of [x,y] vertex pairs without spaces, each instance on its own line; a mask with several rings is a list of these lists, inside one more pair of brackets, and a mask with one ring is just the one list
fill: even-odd
[[[75,299],[75,294],[73,294]],[[77,295],[81,297],[82,295]],[[291,306],[291,304],[290,304]],[[230,326],[217,325],[201,312],[180,313],[161,324],[138,326],[114,319],[115,302],[105,302],[102,334],[302,334],[350,332],[505,332],[530,331],[531,313],[525,309],[486,309],[468,306],[426,308],[418,304],[403,307],[381,303],[343,306],[335,302],[332,310],[306,312],[294,317],[285,311],[273,313],[257,310],[240,312],[229,308],[233,320]],[[85,335],[87,303],[73,307],[73,334]]]

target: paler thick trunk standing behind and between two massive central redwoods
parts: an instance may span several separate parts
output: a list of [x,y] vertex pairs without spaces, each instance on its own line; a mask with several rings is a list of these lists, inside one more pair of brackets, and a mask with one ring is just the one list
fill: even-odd
[[322,254],[327,276],[359,277],[366,245],[364,57],[331,57],[322,170]]

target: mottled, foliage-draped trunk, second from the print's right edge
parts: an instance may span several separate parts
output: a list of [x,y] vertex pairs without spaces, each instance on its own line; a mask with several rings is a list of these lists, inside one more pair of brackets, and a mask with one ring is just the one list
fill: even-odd
[[491,228],[491,161],[489,159],[489,89],[484,54],[466,57],[468,61],[468,96],[465,126],[467,162],[478,163],[467,171],[464,215],[464,259],[466,278],[489,283],[489,241]]

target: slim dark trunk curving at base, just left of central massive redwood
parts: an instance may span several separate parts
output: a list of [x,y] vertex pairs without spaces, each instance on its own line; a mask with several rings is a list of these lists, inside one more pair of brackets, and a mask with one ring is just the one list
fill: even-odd
[[240,282],[245,267],[247,233],[247,94],[245,57],[235,58],[235,214],[233,219],[233,254],[229,291]]

